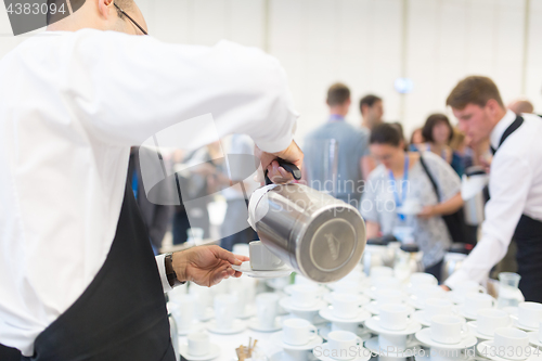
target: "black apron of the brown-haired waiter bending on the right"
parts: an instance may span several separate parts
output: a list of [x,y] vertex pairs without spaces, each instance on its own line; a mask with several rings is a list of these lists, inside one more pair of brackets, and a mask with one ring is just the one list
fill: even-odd
[[[516,131],[524,118],[519,115],[506,129],[499,146]],[[493,154],[499,149],[492,150]],[[521,215],[513,236],[517,244],[517,273],[521,276],[519,289],[526,301],[542,302],[542,222]]]

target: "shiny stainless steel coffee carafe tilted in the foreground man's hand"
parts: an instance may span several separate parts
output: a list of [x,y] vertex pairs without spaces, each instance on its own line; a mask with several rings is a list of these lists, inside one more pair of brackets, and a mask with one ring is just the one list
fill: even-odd
[[360,262],[365,223],[343,201],[302,184],[267,185],[250,197],[248,214],[261,242],[312,281],[337,281]]

